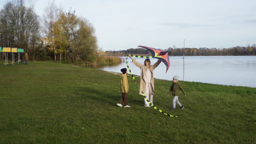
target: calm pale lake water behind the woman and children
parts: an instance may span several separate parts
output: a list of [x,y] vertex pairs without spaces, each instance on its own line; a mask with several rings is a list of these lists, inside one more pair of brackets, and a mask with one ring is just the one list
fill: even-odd
[[[126,57],[122,57],[124,61]],[[170,68],[166,71],[164,63],[160,63],[154,70],[154,77],[162,80],[172,80],[178,75],[183,80],[183,58],[169,57]],[[135,58],[144,63],[145,58]],[[151,58],[151,64],[158,59]],[[128,64],[133,74],[140,75],[140,69],[131,59]],[[214,83],[219,85],[256,87],[256,56],[194,56],[184,59],[184,81]],[[121,68],[127,68],[123,62],[117,66],[100,68],[105,71],[121,73]]]

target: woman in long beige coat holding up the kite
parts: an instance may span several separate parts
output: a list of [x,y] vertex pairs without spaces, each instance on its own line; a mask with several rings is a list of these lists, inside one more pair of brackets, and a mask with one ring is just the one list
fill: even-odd
[[[131,55],[129,55],[129,57],[132,59],[132,62],[141,69],[139,94],[142,95],[142,92],[143,92],[148,98],[148,100],[150,101],[150,103],[153,104],[154,69],[158,67],[158,65],[161,63],[161,60],[158,59],[158,61],[154,65],[150,65],[150,59],[147,58],[144,61],[144,65],[142,65],[139,62],[137,62],[136,59],[132,58]],[[150,107],[146,99],[144,99],[144,103],[146,107]]]

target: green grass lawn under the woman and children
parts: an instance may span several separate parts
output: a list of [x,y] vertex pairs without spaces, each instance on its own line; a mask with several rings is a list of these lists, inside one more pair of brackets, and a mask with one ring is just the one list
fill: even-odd
[[[171,81],[155,79],[144,107],[128,76],[130,109],[118,107],[119,75],[54,62],[0,65],[0,143],[255,143],[256,88],[181,82],[183,110],[171,111]],[[139,78],[137,78],[139,82]]]

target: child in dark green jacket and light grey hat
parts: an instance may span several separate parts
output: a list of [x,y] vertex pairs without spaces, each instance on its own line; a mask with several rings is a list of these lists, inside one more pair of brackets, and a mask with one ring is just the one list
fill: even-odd
[[184,106],[181,103],[179,103],[179,92],[182,91],[184,96],[185,96],[185,92],[182,89],[181,85],[179,85],[178,79],[179,79],[179,77],[177,75],[173,76],[173,78],[172,78],[173,83],[172,83],[172,86],[170,87],[169,92],[167,94],[167,97],[169,97],[170,93],[172,92],[172,95],[173,95],[172,110],[173,111],[176,108],[176,103],[179,105],[180,109],[184,109]]

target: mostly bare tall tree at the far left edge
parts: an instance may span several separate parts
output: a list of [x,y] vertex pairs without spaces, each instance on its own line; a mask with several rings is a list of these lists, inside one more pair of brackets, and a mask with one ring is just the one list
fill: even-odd
[[[28,5],[28,6],[27,6]],[[33,1],[24,0],[7,2],[0,11],[0,44],[8,47],[19,47],[29,55],[34,46],[32,41],[39,33],[38,15],[34,13]]]

